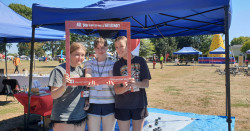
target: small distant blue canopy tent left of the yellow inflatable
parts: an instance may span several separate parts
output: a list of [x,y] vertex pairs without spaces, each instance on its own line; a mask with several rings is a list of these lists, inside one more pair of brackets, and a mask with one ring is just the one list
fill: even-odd
[[174,52],[174,55],[202,55],[202,52],[193,47],[183,47],[181,50]]

